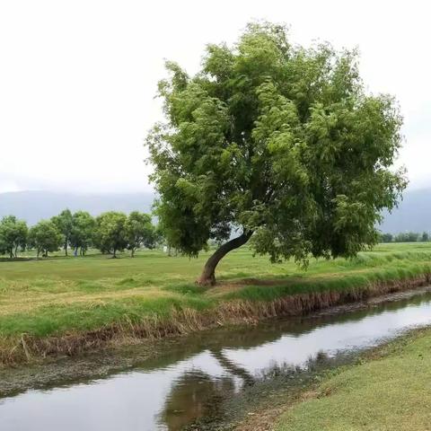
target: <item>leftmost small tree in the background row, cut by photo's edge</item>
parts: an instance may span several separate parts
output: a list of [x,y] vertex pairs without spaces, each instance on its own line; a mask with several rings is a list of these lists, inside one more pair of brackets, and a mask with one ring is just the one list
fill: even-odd
[[9,257],[18,256],[18,248],[27,244],[28,227],[23,220],[15,216],[5,216],[0,222],[0,254],[8,253]]

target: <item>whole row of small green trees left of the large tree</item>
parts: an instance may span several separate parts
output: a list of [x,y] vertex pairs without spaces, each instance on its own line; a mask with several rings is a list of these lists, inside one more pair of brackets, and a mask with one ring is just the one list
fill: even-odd
[[0,254],[11,259],[25,249],[36,250],[38,257],[47,257],[60,248],[66,256],[70,250],[75,256],[84,256],[90,247],[110,253],[114,258],[117,252],[127,249],[133,257],[138,248],[154,249],[161,240],[162,234],[151,216],[138,211],[128,216],[109,211],[93,217],[86,211],[72,214],[65,209],[30,228],[15,216],[4,216],[0,221]]

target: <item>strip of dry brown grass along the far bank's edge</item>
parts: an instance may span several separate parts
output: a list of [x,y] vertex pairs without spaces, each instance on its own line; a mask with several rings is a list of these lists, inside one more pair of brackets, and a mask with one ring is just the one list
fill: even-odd
[[[308,315],[325,312],[333,307],[368,301],[378,296],[400,293],[430,284],[431,272],[423,267],[414,277],[370,280],[364,278],[359,286],[335,289],[335,286],[308,286],[309,292],[283,295],[284,287],[278,286],[275,299],[248,300],[226,297],[215,306],[199,312],[191,308],[172,308],[168,317],[145,316],[140,322],[127,321],[112,324],[99,330],[67,333],[63,336],[37,338],[22,334],[20,339],[0,341],[0,366],[31,365],[48,358],[79,356],[109,347],[145,344],[145,341],[188,335],[219,326],[255,324],[270,318]],[[348,276],[344,278],[348,281]],[[231,295],[232,296],[232,295]]]

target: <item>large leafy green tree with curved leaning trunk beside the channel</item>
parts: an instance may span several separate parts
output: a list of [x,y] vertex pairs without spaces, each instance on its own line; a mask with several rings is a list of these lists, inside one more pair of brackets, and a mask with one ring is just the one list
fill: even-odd
[[365,92],[356,52],[298,47],[283,26],[253,23],[232,48],[209,45],[198,74],[167,68],[151,180],[172,246],[196,256],[224,242],[198,283],[214,284],[220,259],[251,238],[272,261],[303,263],[377,241],[406,185],[391,169],[402,121],[390,96]]

